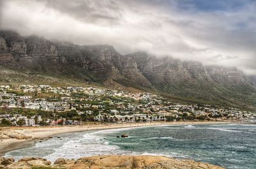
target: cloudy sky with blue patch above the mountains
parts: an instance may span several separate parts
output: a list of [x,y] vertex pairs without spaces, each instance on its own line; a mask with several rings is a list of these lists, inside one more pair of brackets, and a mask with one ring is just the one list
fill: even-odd
[[0,0],[0,29],[256,75],[256,0]]

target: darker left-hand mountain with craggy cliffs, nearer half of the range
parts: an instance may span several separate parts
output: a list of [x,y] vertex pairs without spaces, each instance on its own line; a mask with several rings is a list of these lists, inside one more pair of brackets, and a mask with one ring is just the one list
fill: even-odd
[[1,31],[0,49],[0,65],[6,68],[96,82],[108,78],[127,78],[137,84],[150,86],[136,62],[120,55],[109,45],[79,46]]

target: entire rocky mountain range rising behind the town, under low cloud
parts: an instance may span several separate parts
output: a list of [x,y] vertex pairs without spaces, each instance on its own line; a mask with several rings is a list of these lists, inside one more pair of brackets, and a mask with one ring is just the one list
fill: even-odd
[[0,31],[0,66],[100,84],[113,80],[181,101],[256,107],[256,78],[237,68],[204,66],[145,52],[121,55],[109,45],[80,46]]

